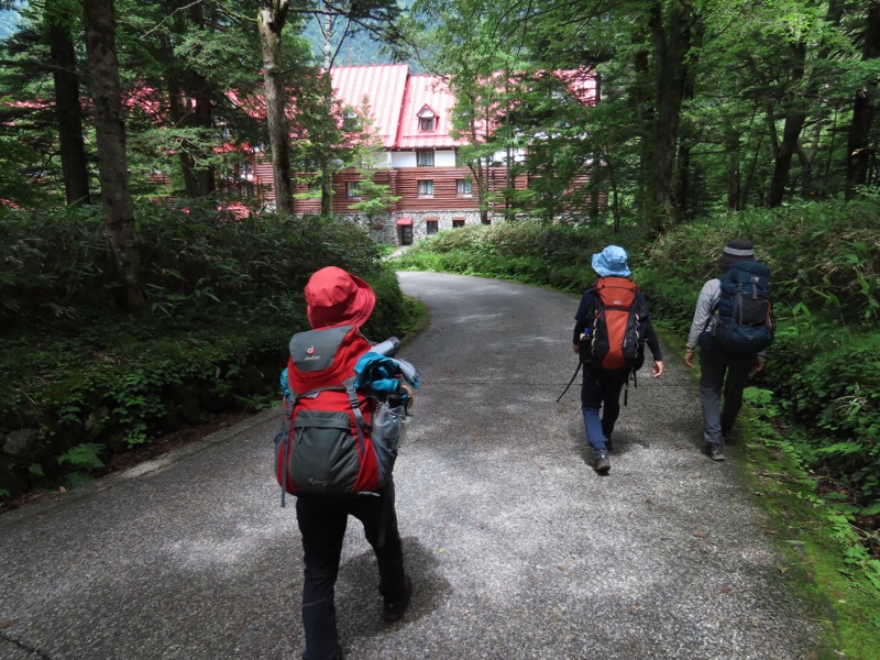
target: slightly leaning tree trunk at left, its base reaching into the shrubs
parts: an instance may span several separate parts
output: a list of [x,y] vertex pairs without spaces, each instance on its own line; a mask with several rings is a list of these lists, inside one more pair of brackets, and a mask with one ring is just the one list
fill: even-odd
[[128,309],[143,306],[141,258],[134,232],[134,209],[129,188],[125,122],[116,50],[116,10],[108,0],[84,0],[86,50],[91,72],[98,170],[105,209],[105,233],[123,284],[120,302]]

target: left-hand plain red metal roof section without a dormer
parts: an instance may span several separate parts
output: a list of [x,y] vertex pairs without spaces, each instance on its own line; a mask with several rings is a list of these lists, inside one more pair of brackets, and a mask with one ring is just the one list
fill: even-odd
[[336,66],[330,70],[333,91],[344,106],[360,110],[370,99],[374,129],[385,148],[394,148],[404,105],[408,64]]

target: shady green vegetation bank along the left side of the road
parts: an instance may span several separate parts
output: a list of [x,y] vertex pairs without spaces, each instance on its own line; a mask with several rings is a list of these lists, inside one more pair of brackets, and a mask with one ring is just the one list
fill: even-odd
[[278,402],[318,268],[374,287],[369,337],[416,322],[375,244],[342,220],[145,205],[147,304],[123,314],[99,209],[0,213],[0,507],[79,485],[164,435]]

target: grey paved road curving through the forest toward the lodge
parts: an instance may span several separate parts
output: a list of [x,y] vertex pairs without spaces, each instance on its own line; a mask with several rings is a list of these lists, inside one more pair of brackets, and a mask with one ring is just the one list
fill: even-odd
[[[701,453],[679,360],[630,391],[601,477],[576,387],[556,403],[576,365],[576,299],[400,280],[431,309],[403,352],[425,383],[395,471],[416,593],[404,622],[380,622],[352,524],[337,588],[349,660],[810,658],[817,615],[735,462]],[[302,566],[271,476],[277,424],[261,414],[0,517],[0,658],[298,658]]]

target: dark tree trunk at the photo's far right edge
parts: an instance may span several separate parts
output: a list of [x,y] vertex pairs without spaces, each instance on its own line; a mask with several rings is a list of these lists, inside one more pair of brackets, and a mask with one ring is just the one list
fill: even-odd
[[[868,25],[861,50],[864,61],[880,56],[880,7],[872,6],[868,11]],[[846,198],[853,199],[856,187],[868,183],[868,166],[871,161],[870,135],[876,109],[877,82],[856,90],[853,101],[853,123],[846,150]]]

